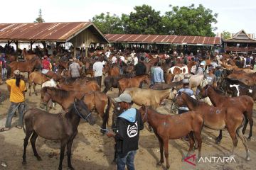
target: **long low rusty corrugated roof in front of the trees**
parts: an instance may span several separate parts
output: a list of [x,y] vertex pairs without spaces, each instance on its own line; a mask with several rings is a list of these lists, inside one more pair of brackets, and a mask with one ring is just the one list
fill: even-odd
[[218,37],[139,34],[105,34],[105,36],[110,42],[220,45]]

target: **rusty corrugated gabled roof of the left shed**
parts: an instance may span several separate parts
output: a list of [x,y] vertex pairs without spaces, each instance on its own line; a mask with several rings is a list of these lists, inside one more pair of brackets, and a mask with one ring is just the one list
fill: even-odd
[[[66,41],[89,26],[94,26],[96,28],[91,22],[0,23],[0,40]],[[100,34],[104,37],[102,33]]]

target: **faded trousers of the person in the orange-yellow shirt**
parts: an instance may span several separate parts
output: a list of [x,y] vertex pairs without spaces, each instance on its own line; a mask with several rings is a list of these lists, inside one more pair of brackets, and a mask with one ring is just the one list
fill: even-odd
[[18,126],[23,125],[23,111],[25,108],[25,102],[21,103],[14,103],[11,102],[11,106],[9,108],[9,111],[7,113],[7,118],[6,118],[6,128],[11,128],[11,119],[14,117],[14,113],[18,109]]

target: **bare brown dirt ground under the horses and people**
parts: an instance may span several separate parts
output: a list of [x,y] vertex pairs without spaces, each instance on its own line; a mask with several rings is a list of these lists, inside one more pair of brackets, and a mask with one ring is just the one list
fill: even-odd
[[[41,87],[37,86],[37,91],[40,91]],[[0,102],[0,127],[4,127],[6,121],[6,112],[9,108],[9,93],[7,92],[6,84],[0,86],[1,102]],[[107,95],[111,97],[117,96],[117,89],[109,91]],[[28,96],[26,93],[26,102],[29,107],[39,108],[40,93],[38,96],[32,93],[32,96]],[[135,106],[139,108],[138,106]],[[255,108],[256,109],[256,108]],[[165,106],[161,106],[157,109],[160,113],[170,114],[170,101],[167,101]],[[61,111],[60,106],[56,107],[56,110],[50,111],[51,113],[58,113]],[[254,110],[253,120],[256,124],[256,112]],[[111,122],[111,121],[110,121]],[[23,138],[25,137],[23,130],[14,128],[17,123],[17,118],[14,117],[12,121],[11,130],[6,132],[0,132],[0,169],[58,169],[60,142],[45,140],[38,137],[36,147],[38,154],[42,157],[42,161],[38,162],[36,157],[33,156],[31,145],[27,147],[27,165],[23,166],[22,154],[23,154]],[[97,125],[101,125],[101,120],[98,118]],[[102,135],[97,125],[91,126],[80,121],[78,126],[78,135],[73,142],[73,156],[72,162],[75,169],[116,169],[116,166],[112,164],[114,156],[114,140],[109,139],[107,136]],[[182,162],[182,157],[185,157],[188,150],[188,142],[185,140],[169,140],[169,162],[171,164],[170,169],[255,169],[256,166],[256,138],[255,138],[255,125],[253,126],[252,140],[247,142],[250,148],[251,161],[245,161],[245,147],[239,140],[238,147],[235,150],[235,162],[223,163],[220,161],[211,163],[196,163],[196,165],[188,164],[188,162]],[[246,137],[249,132],[247,126]],[[203,128],[202,138],[202,156],[203,157],[228,157],[232,150],[233,144],[228,132],[223,131],[223,140],[220,145],[215,145],[214,138],[218,135],[218,131],[209,130]],[[144,129],[141,132],[139,138],[139,150],[135,157],[136,169],[165,169],[166,164],[162,166],[156,166],[156,162],[160,159],[159,143],[154,133]],[[195,150],[192,154],[198,154],[198,150]],[[190,162],[195,163],[193,159],[188,159]],[[6,166],[5,166],[6,165]],[[67,169],[67,157],[63,160],[63,169]]]

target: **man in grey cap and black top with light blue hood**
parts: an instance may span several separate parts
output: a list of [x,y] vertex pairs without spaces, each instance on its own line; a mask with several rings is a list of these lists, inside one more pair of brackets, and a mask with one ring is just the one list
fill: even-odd
[[134,170],[134,157],[138,149],[139,130],[144,129],[142,117],[136,108],[132,108],[132,97],[121,94],[114,101],[124,110],[117,117],[117,133],[107,132],[108,137],[114,137],[117,143],[117,170]]

